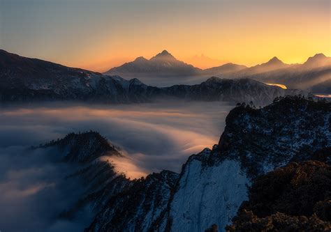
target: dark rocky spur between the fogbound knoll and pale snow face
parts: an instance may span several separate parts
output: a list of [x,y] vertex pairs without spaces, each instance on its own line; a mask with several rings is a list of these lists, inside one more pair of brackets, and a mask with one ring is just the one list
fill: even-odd
[[165,215],[177,179],[177,173],[161,171],[133,180],[105,204],[86,231],[154,231]]

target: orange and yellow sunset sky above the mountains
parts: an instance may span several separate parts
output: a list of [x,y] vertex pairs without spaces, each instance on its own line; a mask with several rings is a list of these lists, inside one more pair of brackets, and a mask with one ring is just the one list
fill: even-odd
[[163,49],[198,68],[303,63],[331,56],[330,13],[328,0],[3,0],[0,48],[98,72]]

